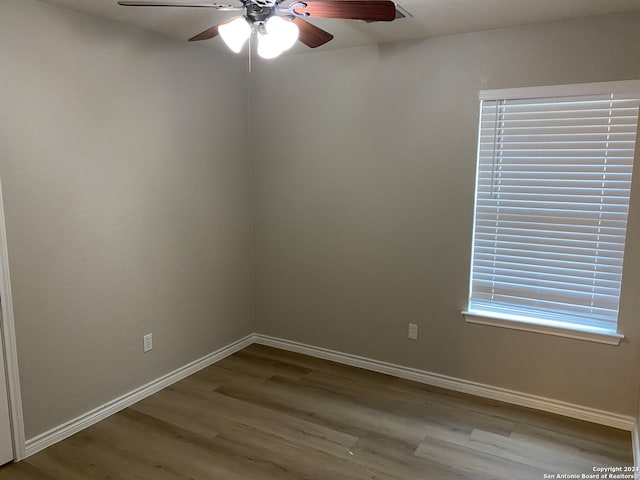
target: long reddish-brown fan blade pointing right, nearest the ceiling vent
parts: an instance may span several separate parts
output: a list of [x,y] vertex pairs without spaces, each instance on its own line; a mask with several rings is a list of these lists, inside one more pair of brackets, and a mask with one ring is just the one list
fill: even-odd
[[310,18],[343,18],[347,20],[391,21],[396,18],[396,6],[387,0],[308,0],[307,6],[294,12]]

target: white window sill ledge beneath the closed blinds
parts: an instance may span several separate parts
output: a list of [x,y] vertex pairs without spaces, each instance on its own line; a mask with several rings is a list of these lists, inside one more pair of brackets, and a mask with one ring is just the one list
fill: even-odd
[[620,341],[624,338],[624,335],[620,333],[608,332],[598,328],[560,326],[554,325],[553,322],[545,322],[543,320],[539,323],[531,323],[523,320],[515,320],[506,316],[491,315],[487,312],[464,311],[462,315],[467,323],[510,328],[524,332],[543,333],[558,337],[586,340],[588,342],[604,343],[607,345],[620,345]]

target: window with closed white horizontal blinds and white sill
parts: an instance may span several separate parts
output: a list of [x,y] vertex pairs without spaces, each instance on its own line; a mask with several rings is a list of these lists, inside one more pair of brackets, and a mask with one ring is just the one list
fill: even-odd
[[465,318],[618,344],[640,81],[480,100]]

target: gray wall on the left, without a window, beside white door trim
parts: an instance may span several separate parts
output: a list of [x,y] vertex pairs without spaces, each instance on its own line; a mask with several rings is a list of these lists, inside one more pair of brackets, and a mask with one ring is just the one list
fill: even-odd
[[32,0],[0,59],[31,438],[253,330],[246,66]]

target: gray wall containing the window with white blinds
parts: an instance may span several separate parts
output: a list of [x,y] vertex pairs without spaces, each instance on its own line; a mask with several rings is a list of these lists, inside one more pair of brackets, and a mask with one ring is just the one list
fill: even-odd
[[[470,325],[460,315],[478,91],[633,78],[637,14],[257,63],[250,119],[259,330],[635,415],[640,188],[621,346]],[[420,326],[418,341],[407,339],[409,322]]]

